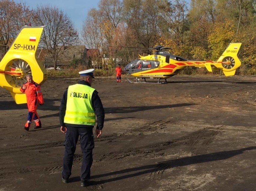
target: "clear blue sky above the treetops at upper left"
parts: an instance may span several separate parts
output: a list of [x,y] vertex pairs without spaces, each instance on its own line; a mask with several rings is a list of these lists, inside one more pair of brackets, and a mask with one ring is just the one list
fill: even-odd
[[64,13],[69,15],[80,32],[81,25],[92,8],[98,8],[100,0],[14,0],[16,3],[26,3],[30,8],[36,8],[37,5],[52,5],[58,7]]

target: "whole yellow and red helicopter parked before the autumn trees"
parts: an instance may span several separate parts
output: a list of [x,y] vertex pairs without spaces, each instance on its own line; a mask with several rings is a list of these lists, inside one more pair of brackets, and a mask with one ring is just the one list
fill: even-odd
[[[217,61],[187,60],[166,51],[166,49],[170,49],[171,47],[159,45],[154,48],[148,48],[155,49],[156,51],[151,55],[140,56],[139,59],[133,60],[125,66],[124,70],[128,74],[136,77],[136,82],[132,82],[127,78],[131,83],[147,83],[146,78],[157,78],[157,83],[160,83],[161,79],[167,82],[167,78],[178,74],[178,72],[187,66],[206,67],[209,72],[212,72],[212,68],[217,68],[222,70],[225,76],[232,76],[235,74],[236,69],[241,66],[241,61],[237,56],[241,45],[242,43],[230,43]],[[145,81],[139,82],[138,78],[142,78]]]

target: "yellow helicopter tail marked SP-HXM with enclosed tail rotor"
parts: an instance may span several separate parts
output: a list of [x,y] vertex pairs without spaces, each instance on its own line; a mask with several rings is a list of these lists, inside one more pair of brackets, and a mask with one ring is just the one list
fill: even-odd
[[20,87],[26,82],[26,75],[42,84],[47,80],[47,71],[37,63],[35,51],[44,26],[24,26],[0,62],[0,86],[8,90],[17,104],[26,103],[26,95]]

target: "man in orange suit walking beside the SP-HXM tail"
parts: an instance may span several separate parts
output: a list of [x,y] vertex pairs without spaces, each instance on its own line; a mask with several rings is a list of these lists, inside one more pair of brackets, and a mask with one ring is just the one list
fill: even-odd
[[29,131],[32,120],[35,122],[34,129],[41,128],[41,121],[36,112],[38,103],[40,105],[44,104],[43,94],[41,92],[40,85],[33,81],[31,74],[26,75],[27,82],[23,84],[20,91],[26,94],[27,105],[29,109],[27,122],[25,123],[24,129]]

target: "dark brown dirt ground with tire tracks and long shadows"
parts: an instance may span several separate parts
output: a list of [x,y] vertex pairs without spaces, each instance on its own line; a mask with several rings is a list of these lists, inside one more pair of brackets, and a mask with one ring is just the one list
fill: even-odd
[[29,132],[26,104],[0,89],[0,191],[255,190],[255,76],[174,76],[167,84],[96,78],[106,115],[93,150],[94,185],[87,188],[80,187],[80,145],[71,182],[61,180],[59,105],[76,81],[50,78],[42,85],[43,127]]

